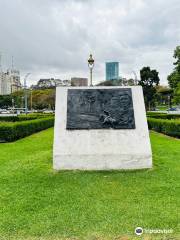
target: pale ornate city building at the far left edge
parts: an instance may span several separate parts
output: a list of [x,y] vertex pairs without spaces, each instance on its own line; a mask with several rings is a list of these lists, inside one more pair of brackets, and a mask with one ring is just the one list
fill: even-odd
[[20,72],[18,70],[0,71],[0,95],[11,94],[21,88]]

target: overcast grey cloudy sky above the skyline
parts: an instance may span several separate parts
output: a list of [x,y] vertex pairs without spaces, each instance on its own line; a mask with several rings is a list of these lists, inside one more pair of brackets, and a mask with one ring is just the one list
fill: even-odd
[[180,45],[180,0],[0,0],[0,52],[29,84],[40,78],[105,79],[105,62],[119,61],[120,75],[143,66],[157,69],[161,84]]

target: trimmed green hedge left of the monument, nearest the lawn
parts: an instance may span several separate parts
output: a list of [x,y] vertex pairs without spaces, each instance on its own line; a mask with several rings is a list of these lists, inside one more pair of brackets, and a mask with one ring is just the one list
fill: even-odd
[[26,120],[15,123],[1,122],[0,141],[12,142],[53,126],[54,117]]

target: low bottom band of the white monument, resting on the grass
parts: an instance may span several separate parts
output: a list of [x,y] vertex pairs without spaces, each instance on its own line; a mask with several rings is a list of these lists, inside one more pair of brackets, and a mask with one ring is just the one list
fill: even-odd
[[54,156],[56,170],[117,170],[151,168],[151,155],[66,155]]

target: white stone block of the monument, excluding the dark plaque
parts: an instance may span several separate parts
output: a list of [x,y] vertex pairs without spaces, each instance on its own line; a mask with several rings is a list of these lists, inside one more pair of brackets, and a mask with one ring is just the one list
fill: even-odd
[[67,129],[68,89],[123,89],[71,87],[56,89],[53,168],[56,170],[118,170],[152,167],[152,154],[140,86],[132,91],[133,129]]

